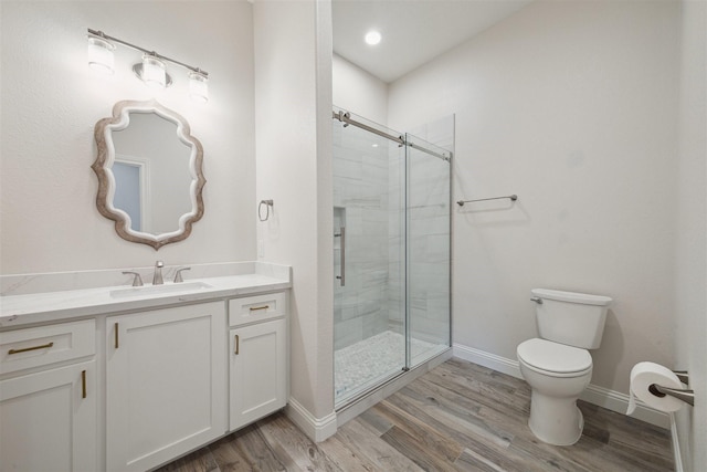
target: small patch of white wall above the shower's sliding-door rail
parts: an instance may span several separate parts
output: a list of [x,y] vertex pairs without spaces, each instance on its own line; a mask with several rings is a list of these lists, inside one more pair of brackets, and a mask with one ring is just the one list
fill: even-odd
[[387,125],[388,84],[337,54],[334,54],[331,65],[334,104]]

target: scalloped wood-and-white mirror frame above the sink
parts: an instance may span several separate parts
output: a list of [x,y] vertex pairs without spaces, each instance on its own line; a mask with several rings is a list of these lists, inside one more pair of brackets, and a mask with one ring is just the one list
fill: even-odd
[[[125,129],[130,124],[130,113],[154,113],[177,125],[177,137],[191,148],[189,167],[192,172],[190,187],[191,211],[179,218],[179,229],[162,234],[151,234],[135,231],[130,228],[130,217],[123,210],[113,206],[115,195],[115,176],[112,171],[115,161],[115,145],[113,143],[113,132]],[[113,116],[102,118],[96,123],[94,137],[97,145],[96,160],[91,168],[98,177],[98,193],[96,196],[96,207],[101,214],[115,221],[115,231],[126,241],[137,242],[152,247],[156,251],[162,245],[187,239],[191,234],[191,227],[203,217],[202,189],[207,182],[203,177],[203,147],[199,139],[191,135],[189,123],[177,112],[157,103],[157,101],[123,101],[113,107]]]

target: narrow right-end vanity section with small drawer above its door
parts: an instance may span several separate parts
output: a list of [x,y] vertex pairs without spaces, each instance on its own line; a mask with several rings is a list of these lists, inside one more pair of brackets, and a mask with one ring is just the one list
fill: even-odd
[[231,431],[287,402],[286,314],[284,292],[229,301]]

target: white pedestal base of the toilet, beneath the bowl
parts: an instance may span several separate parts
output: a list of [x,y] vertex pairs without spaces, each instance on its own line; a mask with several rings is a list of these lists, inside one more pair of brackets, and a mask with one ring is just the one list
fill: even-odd
[[548,397],[532,390],[528,426],[544,442],[572,445],[582,437],[584,417],[577,407],[577,398]]

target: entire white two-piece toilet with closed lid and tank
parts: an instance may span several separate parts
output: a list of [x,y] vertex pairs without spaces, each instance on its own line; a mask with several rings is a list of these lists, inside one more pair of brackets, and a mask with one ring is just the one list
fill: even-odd
[[518,345],[520,374],[532,389],[532,433],[544,442],[571,445],[584,427],[577,399],[592,378],[588,349],[601,344],[611,298],[557,290],[534,289],[540,338]]

